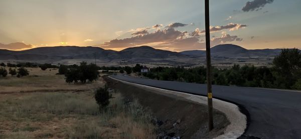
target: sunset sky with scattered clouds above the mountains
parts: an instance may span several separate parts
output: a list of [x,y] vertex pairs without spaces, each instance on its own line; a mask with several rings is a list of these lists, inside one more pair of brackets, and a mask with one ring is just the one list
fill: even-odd
[[[301,48],[301,1],[210,0],[211,46]],[[200,0],[1,0],[0,49],[205,48]]]

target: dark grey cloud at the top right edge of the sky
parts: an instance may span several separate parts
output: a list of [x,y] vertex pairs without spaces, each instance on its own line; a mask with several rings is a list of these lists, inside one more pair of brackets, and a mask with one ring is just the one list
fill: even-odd
[[274,0],[254,0],[251,2],[247,2],[246,5],[242,8],[243,12],[249,11],[258,11],[261,10],[266,4],[273,3]]

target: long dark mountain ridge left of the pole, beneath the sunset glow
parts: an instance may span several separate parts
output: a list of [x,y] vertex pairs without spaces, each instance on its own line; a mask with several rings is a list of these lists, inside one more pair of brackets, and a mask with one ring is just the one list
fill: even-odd
[[63,60],[63,59],[100,59],[102,61],[129,59],[166,59],[182,58],[186,55],[154,49],[149,46],[127,48],[122,51],[105,50],[99,47],[57,46],[39,47],[24,51],[0,49],[0,60]]

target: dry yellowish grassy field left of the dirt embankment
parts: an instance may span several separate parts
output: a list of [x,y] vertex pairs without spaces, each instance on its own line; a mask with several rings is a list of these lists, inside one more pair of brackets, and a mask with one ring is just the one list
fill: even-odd
[[137,101],[124,103],[120,93],[99,112],[88,84],[65,83],[57,69],[28,68],[27,77],[0,78],[0,138],[155,138],[152,116]]

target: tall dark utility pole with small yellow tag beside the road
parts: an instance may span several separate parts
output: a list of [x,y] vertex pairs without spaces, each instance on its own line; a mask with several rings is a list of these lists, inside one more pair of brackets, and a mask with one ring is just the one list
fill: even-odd
[[205,0],[205,30],[206,30],[206,60],[207,60],[207,96],[208,96],[208,116],[209,130],[213,129],[213,104],[211,85],[211,55],[210,55],[210,23],[209,23],[209,0]]

